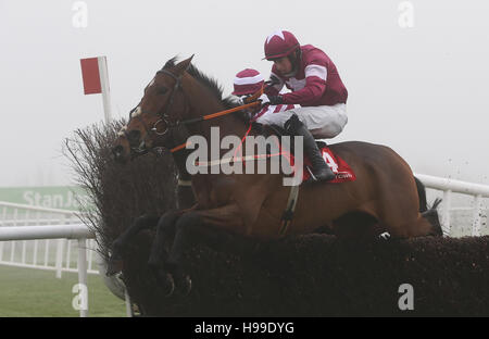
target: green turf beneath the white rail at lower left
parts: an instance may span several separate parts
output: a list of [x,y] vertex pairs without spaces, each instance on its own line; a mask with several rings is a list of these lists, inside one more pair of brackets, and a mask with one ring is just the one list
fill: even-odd
[[[79,316],[72,301],[77,273],[63,272],[58,279],[53,271],[0,265],[0,317]],[[88,275],[88,316],[125,316],[125,303],[105,287],[99,275]]]

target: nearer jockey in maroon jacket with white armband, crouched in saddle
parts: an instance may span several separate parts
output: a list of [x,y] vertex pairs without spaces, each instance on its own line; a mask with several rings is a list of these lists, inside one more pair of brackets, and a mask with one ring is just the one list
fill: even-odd
[[[321,155],[314,138],[334,138],[348,122],[348,91],[335,64],[321,49],[300,46],[287,30],[277,30],[266,38],[265,59],[274,62],[271,79],[276,85],[266,88],[260,97],[262,105],[301,105],[269,116],[269,123],[304,138],[313,179],[334,179],[335,174]],[[280,93],[284,86],[291,92]]]

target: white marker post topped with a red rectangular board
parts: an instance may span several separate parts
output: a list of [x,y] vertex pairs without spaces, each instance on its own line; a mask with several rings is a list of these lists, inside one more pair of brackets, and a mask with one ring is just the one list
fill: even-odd
[[105,123],[112,121],[111,96],[106,56],[82,59],[82,77],[85,95],[102,93]]

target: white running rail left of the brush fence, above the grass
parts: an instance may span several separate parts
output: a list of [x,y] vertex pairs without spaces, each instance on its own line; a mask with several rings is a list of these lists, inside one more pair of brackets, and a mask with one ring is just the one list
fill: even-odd
[[[77,272],[78,284],[87,287],[87,274],[99,273],[92,269],[96,242],[78,214],[0,201],[0,265],[55,271],[58,278],[62,272]],[[75,241],[78,255],[72,267]],[[79,310],[83,317],[88,316],[86,302]]]

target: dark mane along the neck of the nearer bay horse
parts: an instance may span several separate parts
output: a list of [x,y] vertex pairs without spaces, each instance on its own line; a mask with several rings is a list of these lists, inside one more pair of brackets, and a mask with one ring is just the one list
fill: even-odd
[[[163,66],[163,70],[174,67],[176,65],[176,61],[177,56],[170,59]],[[197,81],[199,81],[205,88],[208,88],[211,91],[211,93],[213,93],[214,97],[222,102],[222,104],[225,106],[226,110],[234,109],[239,105],[238,101],[231,96],[223,98],[224,89],[217,83],[217,80],[203,74],[193,64],[190,64],[190,66],[187,70],[187,73],[190,74]],[[239,116],[246,124],[249,123],[250,120],[244,112],[239,111],[236,112],[235,114],[236,116]]]

